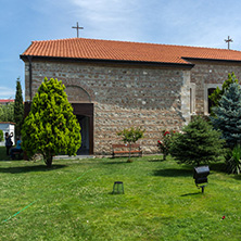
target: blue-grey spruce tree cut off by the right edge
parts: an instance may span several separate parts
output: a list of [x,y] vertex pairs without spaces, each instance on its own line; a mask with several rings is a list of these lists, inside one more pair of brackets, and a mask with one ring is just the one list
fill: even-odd
[[237,83],[225,91],[213,112],[213,126],[221,131],[227,147],[233,149],[241,142],[241,90]]

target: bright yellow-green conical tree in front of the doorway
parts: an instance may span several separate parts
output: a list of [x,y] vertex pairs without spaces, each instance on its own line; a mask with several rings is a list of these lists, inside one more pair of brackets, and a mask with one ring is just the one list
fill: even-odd
[[29,157],[41,153],[48,167],[54,155],[76,155],[81,144],[80,126],[64,89],[62,81],[45,78],[22,128],[23,149]]

